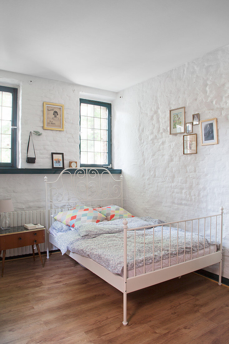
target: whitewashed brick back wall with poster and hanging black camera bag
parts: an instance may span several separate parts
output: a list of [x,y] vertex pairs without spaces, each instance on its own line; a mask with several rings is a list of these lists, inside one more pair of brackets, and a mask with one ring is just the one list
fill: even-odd
[[[112,103],[116,93],[45,78],[0,71],[0,84],[19,87],[18,157],[20,168],[52,168],[51,152],[63,152],[65,167],[79,163],[79,98],[100,99]],[[43,130],[43,102],[64,104],[65,130]],[[33,135],[36,163],[26,163],[30,131]],[[43,174],[0,174],[0,198],[12,198],[15,211],[45,208]],[[56,175],[48,174],[48,180]]]

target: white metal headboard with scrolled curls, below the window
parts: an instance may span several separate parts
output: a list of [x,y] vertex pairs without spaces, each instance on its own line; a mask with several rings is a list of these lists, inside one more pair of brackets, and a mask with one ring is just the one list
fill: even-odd
[[114,179],[106,168],[67,168],[56,180],[48,181],[45,176],[44,181],[46,214],[48,209],[67,209],[76,204],[122,206],[122,175]]

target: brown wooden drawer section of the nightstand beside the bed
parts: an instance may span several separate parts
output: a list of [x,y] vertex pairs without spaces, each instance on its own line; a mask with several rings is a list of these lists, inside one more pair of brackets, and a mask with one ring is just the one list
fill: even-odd
[[35,244],[41,244],[45,241],[44,229],[31,230],[29,232],[19,232],[0,236],[0,250],[8,250]]

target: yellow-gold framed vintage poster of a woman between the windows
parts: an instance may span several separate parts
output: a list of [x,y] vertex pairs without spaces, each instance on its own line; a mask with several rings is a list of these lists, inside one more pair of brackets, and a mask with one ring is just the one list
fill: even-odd
[[64,130],[64,105],[43,103],[43,129]]

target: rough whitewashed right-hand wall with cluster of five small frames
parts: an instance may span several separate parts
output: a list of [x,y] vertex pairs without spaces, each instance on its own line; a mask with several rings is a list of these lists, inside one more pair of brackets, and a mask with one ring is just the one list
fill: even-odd
[[[123,90],[113,110],[113,162],[123,174],[124,205],[167,221],[219,213],[223,276],[229,278],[229,46]],[[217,117],[219,144],[183,155],[183,134],[169,135],[169,110],[185,106],[186,122]],[[125,149],[123,149],[125,147]],[[214,267],[214,272],[218,270]]]

